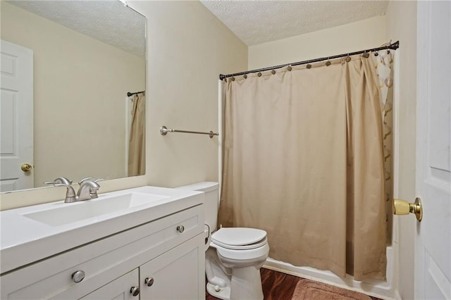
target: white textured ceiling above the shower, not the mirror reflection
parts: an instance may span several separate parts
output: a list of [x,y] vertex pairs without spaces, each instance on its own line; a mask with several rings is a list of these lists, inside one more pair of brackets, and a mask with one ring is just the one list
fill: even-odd
[[206,1],[248,46],[384,15],[388,1]]

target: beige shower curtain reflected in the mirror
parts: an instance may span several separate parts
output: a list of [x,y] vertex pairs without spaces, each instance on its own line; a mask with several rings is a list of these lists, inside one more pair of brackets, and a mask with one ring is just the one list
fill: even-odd
[[146,97],[143,93],[133,95],[132,122],[128,143],[128,176],[144,175],[146,172],[145,104]]

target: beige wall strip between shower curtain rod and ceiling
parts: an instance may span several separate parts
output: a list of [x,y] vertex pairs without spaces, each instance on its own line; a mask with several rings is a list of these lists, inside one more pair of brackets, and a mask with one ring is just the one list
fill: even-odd
[[388,42],[381,15],[305,35],[249,46],[249,70],[370,49]]

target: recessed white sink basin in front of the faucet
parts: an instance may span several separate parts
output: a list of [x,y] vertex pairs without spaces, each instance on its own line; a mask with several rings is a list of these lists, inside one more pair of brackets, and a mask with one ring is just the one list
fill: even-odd
[[25,213],[23,216],[47,225],[61,226],[168,198],[170,196],[134,192],[120,196],[80,201],[78,205],[61,206],[46,211]]

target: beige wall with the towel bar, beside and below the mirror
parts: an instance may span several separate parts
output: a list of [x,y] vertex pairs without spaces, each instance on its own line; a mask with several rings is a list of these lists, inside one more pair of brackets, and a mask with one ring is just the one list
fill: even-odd
[[[163,137],[159,127],[218,130],[218,75],[245,70],[247,46],[198,1],[128,3],[147,17],[147,171],[102,182],[100,192],[218,180],[217,137]],[[0,203],[6,209],[63,199],[64,194],[61,187],[42,188],[2,194]]]

